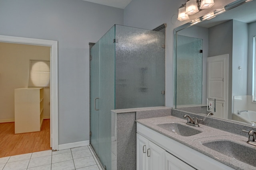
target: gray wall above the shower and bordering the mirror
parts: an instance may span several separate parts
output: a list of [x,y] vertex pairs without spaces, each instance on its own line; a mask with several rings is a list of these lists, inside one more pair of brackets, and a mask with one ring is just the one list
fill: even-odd
[[166,27],[166,106],[173,106],[173,31],[174,28],[183,25],[191,20],[230,4],[235,0],[214,0],[214,6],[210,9],[202,10],[186,21],[176,20],[178,8],[186,0],[132,0],[124,9],[124,25],[139,27],[144,29],[154,29],[162,23],[167,23]]

